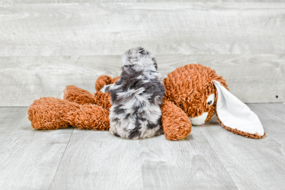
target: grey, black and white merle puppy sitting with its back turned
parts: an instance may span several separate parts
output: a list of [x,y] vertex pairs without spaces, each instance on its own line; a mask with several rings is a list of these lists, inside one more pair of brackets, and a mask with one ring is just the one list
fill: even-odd
[[110,131],[122,138],[145,138],[163,133],[161,100],[165,94],[162,75],[154,56],[141,47],[129,49],[122,58],[120,79],[105,85],[110,92]]

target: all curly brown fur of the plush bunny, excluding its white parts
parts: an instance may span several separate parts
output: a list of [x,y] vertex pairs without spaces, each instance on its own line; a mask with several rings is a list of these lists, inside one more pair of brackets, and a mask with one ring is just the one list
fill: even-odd
[[[41,98],[35,100],[29,107],[29,120],[35,129],[58,129],[76,126],[81,129],[108,130],[109,110],[111,107],[110,95],[101,93],[104,85],[117,82],[120,77],[100,76],[96,83],[96,93],[92,95],[76,86],[67,86],[65,100],[57,98]],[[208,112],[206,121],[209,121],[216,110],[217,90],[213,80],[219,81],[227,90],[226,80],[218,76],[215,70],[199,64],[189,64],[177,68],[163,80],[165,98],[161,104],[162,126],[165,138],[179,140],[187,137],[192,125],[188,118],[200,116]],[[215,94],[212,106],[207,104],[207,97]],[[68,101],[67,101],[68,100]],[[249,134],[237,129],[231,129],[222,124],[228,131],[248,138],[262,138],[257,134]]]

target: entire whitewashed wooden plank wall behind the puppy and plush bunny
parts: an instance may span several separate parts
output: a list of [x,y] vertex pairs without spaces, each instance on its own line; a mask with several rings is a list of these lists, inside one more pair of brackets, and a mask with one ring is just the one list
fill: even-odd
[[281,1],[12,2],[0,1],[0,106],[60,97],[71,84],[95,92],[97,77],[117,76],[136,46],[154,52],[165,75],[200,63],[243,102],[285,102]]

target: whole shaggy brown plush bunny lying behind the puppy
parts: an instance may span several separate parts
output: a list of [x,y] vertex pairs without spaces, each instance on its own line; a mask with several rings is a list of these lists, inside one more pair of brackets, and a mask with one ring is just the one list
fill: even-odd
[[[105,85],[116,83],[119,77],[100,76],[96,93],[92,95],[76,86],[67,86],[62,99],[41,98],[29,107],[28,114],[35,129],[108,130],[111,99],[102,93]],[[257,115],[232,95],[225,79],[204,65],[189,64],[170,72],[163,79],[165,97],[161,104],[161,123],[168,140],[187,137],[193,125],[209,121],[216,111],[218,122],[228,131],[248,138],[265,136]]]

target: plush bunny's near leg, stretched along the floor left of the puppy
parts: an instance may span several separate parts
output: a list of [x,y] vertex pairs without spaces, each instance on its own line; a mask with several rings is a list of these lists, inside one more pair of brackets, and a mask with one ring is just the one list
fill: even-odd
[[58,98],[35,100],[28,109],[28,118],[35,129],[80,129],[108,130],[109,111],[98,105],[79,105]]

